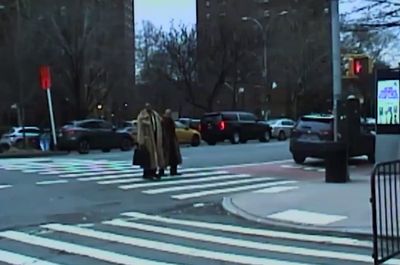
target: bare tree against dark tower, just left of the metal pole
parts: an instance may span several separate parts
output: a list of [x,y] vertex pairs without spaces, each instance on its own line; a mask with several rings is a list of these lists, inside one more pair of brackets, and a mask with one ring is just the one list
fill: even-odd
[[326,88],[331,87],[330,29],[324,10],[304,5],[290,12],[282,22],[289,24],[289,30],[274,33],[277,42],[272,43],[271,53],[275,55],[271,61],[279,62],[279,67],[272,70],[287,87],[287,112],[297,117],[300,112],[323,111],[315,108],[326,105],[321,101],[329,98],[330,90]]

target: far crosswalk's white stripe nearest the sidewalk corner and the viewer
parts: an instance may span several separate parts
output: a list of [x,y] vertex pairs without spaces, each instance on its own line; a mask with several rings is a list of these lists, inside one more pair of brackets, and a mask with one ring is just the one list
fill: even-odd
[[292,180],[290,180],[290,181],[277,181],[277,182],[253,184],[253,185],[240,186],[240,187],[227,188],[227,189],[215,189],[215,190],[206,190],[206,191],[199,191],[199,192],[186,193],[186,194],[177,194],[177,195],[172,195],[171,198],[177,199],[177,200],[186,200],[186,199],[204,197],[204,196],[208,196],[208,195],[231,193],[231,192],[238,192],[238,191],[244,191],[244,190],[261,189],[261,188],[267,188],[267,187],[278,186],[278,185],[293,184],[293,183],[296,183],[296,181],[292,181]]

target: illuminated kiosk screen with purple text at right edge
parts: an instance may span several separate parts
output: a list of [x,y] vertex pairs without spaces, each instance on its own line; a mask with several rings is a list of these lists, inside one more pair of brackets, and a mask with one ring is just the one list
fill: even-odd
[[399,80],[378,81],[377,108],[377,124],[400,125]]

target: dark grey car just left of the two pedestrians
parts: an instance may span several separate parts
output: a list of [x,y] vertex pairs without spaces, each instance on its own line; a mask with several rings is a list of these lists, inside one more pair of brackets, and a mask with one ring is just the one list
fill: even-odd
[[132,149],[133,140],[128,132],[119,131],[111,123],[101,119],[73,121],[64,125],[58,135],[58,147],[87,154],[91,149],[109,152],[113,148],[122,151]]

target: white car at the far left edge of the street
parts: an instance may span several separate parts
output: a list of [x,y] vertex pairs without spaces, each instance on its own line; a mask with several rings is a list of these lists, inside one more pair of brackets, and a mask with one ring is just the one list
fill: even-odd
[[12,127],[0,139],[2,149],[9,149],[11,146],[22,149],[24,147],[24,136],[30,147],[38,148],[40,129],[34,126]]

